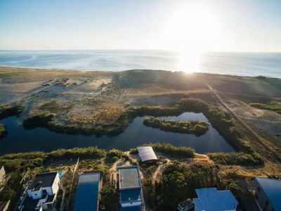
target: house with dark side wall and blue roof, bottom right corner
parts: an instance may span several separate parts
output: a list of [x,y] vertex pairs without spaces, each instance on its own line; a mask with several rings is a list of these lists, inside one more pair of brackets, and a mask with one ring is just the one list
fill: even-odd
[[260,210],[281,210],[281,180],[255,177],[254,197]]

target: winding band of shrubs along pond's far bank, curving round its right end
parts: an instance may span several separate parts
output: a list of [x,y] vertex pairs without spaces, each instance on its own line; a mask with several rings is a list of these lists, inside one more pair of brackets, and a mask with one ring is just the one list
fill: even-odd
[[[46,127],[54,132],[67,134],[119,134],[123,132],[135,117],[151,115],[154,117],[180,115],[184,112],[203,113],[212,127],[214,127],[228,143],[230,143],[235,151],[240,154],[231,153],[213,153],[210,154],[214,161],[220,164],[233,163],[236,165],[263,165],[263,160],[254,151],[248,141],[242,139],[238,132],[235,120],[225,110],[212,106],[209,103],[201,101],[197,98],[183,98],[174,106],[134,106],[128,108],[118,118],[116,122],[105,125],[77,125],[77,124],[61,124],[55,122],[55,114],[41,113],[28,117],[23,121],[26,129],[34,127]],[[201,130],[201,129],[200,129]],[[164,148],[164,147],[163,147]],[[161,148],[160,148],[161,149]],[[157,151],[157,149],[155,149]],[[243,153],[243,154],[242,154]],[[192,155],[192,153],[188,154]],[[242,158],[237,159],[243,155]]]

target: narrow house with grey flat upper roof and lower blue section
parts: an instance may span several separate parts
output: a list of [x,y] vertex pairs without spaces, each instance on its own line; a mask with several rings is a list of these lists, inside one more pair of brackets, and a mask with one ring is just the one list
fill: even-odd
[[117,170],[120,210],[145,210],[138,166],[118,167]]

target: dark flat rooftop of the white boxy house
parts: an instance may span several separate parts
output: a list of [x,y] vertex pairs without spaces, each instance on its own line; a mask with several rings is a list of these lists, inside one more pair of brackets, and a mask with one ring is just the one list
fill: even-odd
[[52,186],[57,174],[58,172],[46,172],[37,174],[28,189],[32,191],[38,191],[40,190],[40,188]]

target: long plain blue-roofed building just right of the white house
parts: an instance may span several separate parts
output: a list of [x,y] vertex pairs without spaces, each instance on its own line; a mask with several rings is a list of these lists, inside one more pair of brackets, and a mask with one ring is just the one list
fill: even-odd
[[98,210],[99,187],[99,172],[80,174],[77,191],[75,193],[74,211]]

